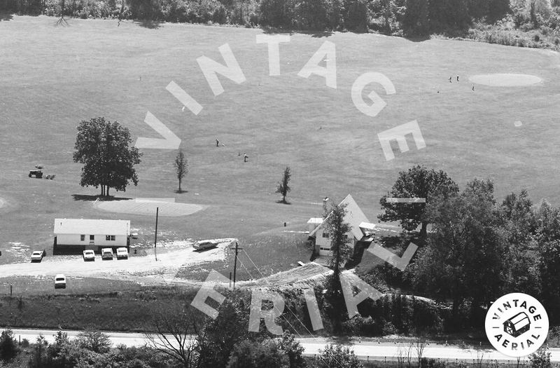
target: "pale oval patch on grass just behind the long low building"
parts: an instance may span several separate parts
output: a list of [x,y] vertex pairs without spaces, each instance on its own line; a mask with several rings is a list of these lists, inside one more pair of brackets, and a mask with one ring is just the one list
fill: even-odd
[[160,207],[160,216],[186,216],[204,208],[190,203],[175,203],[158,200],[111,200],[97,203],[97,208],[109,212],[127,214],[155,215],[155,209]]

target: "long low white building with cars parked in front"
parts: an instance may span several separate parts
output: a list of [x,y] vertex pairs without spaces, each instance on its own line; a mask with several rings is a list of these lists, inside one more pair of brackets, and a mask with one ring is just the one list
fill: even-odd
[[100,250],[130,245],[129,220],[55,219],[54,232],[58,247]]

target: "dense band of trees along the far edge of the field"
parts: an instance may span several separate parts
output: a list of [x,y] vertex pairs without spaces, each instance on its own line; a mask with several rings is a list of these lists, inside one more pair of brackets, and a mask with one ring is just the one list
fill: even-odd
[[0,11],[560,44],[560,0],[0,0]]

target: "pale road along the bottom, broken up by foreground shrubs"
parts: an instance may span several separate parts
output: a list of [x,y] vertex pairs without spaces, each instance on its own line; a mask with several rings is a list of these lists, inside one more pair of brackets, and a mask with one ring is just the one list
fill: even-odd
[[[52,343],[55,341],[55,334],[59,330],[57,329],[13,329],[13,334],[15,339],[27,339],[29,342],[33,343],[36,341],[39,334],[45,336],[45,339]],[[70,331],[64,330],[70,339],[76,338],[80,331]],[[141,347],[148,343],[148,339],[145,334],[135,333],[135,332],[104,332],[107,334],[113,343],[113,346],[118,346],[120,344],[125,344],[126,346],[137,346]],[[171,339],[170,341],[172,341]],[[303,337],[297,339],[300,341],[304,348],[304,355],[315,355],[318,354],[319,349],[323,349],[325,345],[332,342],[332,339],[325,339],[324,337]],[[411,340],[412,343],[412,340]],[[363,360],[396,360],[399,353],[402,353],[402,357],[406,357],[407,350],[410,348],[411,343],[388,343],[382,342],[377,343],[377,341],[361,341],[357,342],[353,339],[351,345],[349,346],[354,350],[354,353]],[[552,362],[560,362],[560,348],[550,349],[550,360]],[[412,346],[411,353],[412,359],[416,357],[416,347]],[[442,360],[460,360],[460,361],[478,361],[478,360],[509,360],[511,362],[517,362],[514,357],[508,357],[497,350],[493,349],[475,349],[475,348],[460,348],[458,346],[445,346],[442,344],[430,343],[423,350],[423,357],[427,358],[440,358]],[[526,360],[525,357],[521,358],[521,362]]]

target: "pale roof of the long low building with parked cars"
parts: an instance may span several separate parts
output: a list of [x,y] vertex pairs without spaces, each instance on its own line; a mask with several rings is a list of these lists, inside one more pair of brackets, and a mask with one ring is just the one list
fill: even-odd
[[55,234],[130,235],[129,220],[55,219]]

